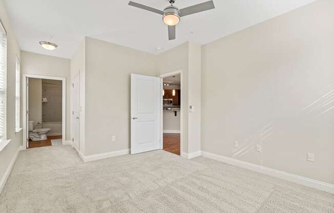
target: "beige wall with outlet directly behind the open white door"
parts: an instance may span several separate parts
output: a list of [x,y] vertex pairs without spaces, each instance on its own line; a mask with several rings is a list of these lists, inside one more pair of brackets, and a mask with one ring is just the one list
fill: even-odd
[[130,148],[130,74],[156,76],[155,56],[89,37],[85,52],[84,154]]

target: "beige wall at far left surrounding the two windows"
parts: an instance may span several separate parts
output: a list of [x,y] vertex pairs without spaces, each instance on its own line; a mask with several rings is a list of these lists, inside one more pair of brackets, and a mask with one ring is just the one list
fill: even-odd
[[20,50],[3,1],[0,1],[0,20],[7,31],[7,139],[11,139],[0,152],[0,183],[3,183],[4,174],[22,145],[22,131],[15,133],[15,61],[16,55],[20,58]]

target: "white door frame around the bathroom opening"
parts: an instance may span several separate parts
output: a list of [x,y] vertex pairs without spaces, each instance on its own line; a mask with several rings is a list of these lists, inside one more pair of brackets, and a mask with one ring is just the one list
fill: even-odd
[[[35,74],[25,74],[23,73],[22,78],[22,96],[23,96],[23,103],[22,103],[22,126],[23,126],[23,148],[27,148],[27,133],[28,133],[28,126],[27,126],[27,78],[39,78],[39,79],[50,79],[50,80],[61,80],[62,81],[62,144],[65,144],[66,141],[66,78],[65,77],[54,77],[54,76],[46,76],[46,75],[35,75]],[[29,98],[29,97],[28,97]],[[29,109],[28,109],[29,110]]]

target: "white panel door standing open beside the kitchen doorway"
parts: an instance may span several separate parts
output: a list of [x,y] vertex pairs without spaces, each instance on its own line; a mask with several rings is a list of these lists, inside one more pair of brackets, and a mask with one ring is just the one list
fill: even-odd
[[131,154],[160,148],[160,78],[131,74]]

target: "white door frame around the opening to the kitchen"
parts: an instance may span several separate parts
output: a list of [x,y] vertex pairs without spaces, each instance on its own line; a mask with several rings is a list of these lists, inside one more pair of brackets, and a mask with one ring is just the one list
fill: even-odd
[[182,70],[177,70],[174,72],[169,72],[169,73],[164,73],[159,75],[160,77],[160,150],[163,149],[163,96],[162,96],[162,91],[163,91],[163,78],[165,77],[170,77],[173,75],[180,75],[181,78],[181,103],[180,103],[180,155],[182,154],[182,145],[183,145],[183,71]]

